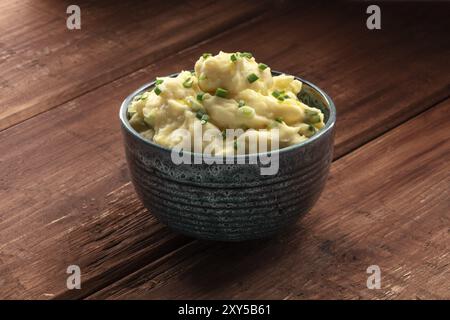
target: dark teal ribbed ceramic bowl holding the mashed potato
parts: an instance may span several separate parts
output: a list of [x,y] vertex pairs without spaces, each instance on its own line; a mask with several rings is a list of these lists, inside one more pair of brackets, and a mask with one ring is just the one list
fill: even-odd
[[261,175],[263,164],[248,163],[252,155],[235,157],[246,164],[174,164],[170,149],[142,138],[128,122],[129,103],[154,82],[128,96],[120,120],[131,179],[144,206],[173,230],[208,240],[265,238],[295,224],[325,186],[336,121],[328,95],[297,79],[303,83],[299,99],[324,112],[325,127],[300,144],[272,151],[279,157],[275,175]]

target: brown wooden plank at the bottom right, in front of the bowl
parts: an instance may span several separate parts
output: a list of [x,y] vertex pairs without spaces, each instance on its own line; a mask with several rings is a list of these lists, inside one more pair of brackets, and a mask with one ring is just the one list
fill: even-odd
[[90,298],[449,299],[449,113],[447,100],[336,161],[287,234],[195,241]]

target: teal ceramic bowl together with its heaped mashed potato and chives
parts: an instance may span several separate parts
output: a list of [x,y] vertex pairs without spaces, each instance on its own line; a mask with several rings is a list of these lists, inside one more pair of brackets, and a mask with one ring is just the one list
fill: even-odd
[[[270,71],[265,65],[257,64],[250,54],[234,53],[233,57],[233,54],[219,53],[218,56],[205,55],[199,59],[194,73],[157,78],[123,101],[119,115],[130,177],[144,206],[177,232],[219,241],[269,237],[294,226],[319,198],[333,158],[336,110],[331,98],[305,79]],[[242,64],[239,68],[236,65],[227,70],[225,66],[229,62],[225,64],[225,57],[232,63],[245,60],[239,60]],[[217,65],[207,66],[206,62],[215,61],[210,59],[218,59]],[[255,66],[260,71],[251,69]],[[247,75],[247,71],[258,79]],[[269,71],[270,75],[266,75]],[[214,83],[203,86],[208,75],[209,80],[215,79]],[[247,95],[262,98],[244,100],[242,97]],[[244,106],[255,110],[248,119],[240,118],[238,113]],[[308,114],[309,110],[315,113]],[[313,115],[318,118],[312,118]],[[298,122],[291,121],[295,116]],[[242,136],[255,131],[254,128],[263,128],[258,130],[261,133],[276,131],[271,124],[281,127],[280,132],[286,126],[286,131],[295,133],[291,135],[288,131],[283,136],[279,150],[214,157],[236,160],[223,164],[206,161],[209,159],[206,149],[199,157],[200,151],[194,148],[194,152],[182,152],[188,160],[194,158],[194,162],[174,161],[180,137],[177,133],[190,132],[184,128],[212,127],[227,131],[236,128],[243,132]],[[302,133],[301,127],[310,125],[314,132]],[[297,127],[300,127],[298,131]],[[224,140],[228,138],[227,135]],[[224,145],[221,150],[227,153],[229,149],[230,146]],[[264,175],[262,169],[268,163],[261,160],[269,154],[278,162],[279,170]],[[250,161],[252,157],[258,161]],[[205,161],[196,163],[195,159]]]

